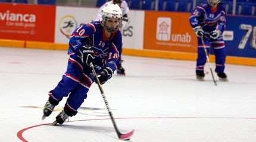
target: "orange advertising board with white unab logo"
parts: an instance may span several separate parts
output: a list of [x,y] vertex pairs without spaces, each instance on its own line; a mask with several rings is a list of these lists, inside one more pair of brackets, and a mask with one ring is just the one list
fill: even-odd
[[195,53],[197,38],[189,13],[145,11],[143,49]]

